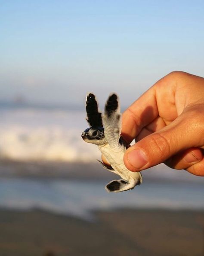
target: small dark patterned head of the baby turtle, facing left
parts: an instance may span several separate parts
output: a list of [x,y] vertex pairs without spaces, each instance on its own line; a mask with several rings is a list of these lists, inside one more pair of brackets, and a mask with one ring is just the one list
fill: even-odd
[[87,128],[85,131],[82,132],[81,137],[84,141],[96,145],[103,145],[107,143],[103,127],[91,126],[90,128]]

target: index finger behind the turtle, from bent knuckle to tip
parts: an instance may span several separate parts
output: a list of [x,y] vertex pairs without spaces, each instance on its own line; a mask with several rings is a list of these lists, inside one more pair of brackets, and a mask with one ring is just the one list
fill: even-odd
[[122,117],[122,136],[130,143],[146,125],[160,116],[173,121],[177,116],[174,91],[176,80],[170,73],[156,82],[125,110]]

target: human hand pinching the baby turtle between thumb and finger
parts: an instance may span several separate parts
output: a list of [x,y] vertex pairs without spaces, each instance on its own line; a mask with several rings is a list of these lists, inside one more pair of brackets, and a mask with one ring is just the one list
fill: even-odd
[[122,136],[136,141],[124,154],[130,171],[165,163],[204,176],[204,78],[181,71],[161,78],[123,113]]

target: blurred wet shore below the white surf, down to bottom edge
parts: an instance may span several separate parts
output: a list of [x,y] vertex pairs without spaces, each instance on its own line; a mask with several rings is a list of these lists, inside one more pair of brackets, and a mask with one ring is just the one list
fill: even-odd
[[97,163],[1,161],[0,256],[204,256],[203,179],[162,172],[112,195]]

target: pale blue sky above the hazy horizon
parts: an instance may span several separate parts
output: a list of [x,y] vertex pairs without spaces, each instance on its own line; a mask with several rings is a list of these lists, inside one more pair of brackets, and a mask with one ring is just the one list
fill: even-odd
[[204,76],[204,1],[0,0],[0,100],[128,105],[173,70]]

